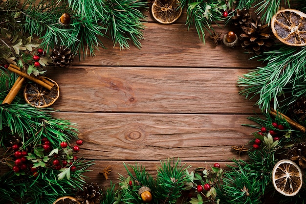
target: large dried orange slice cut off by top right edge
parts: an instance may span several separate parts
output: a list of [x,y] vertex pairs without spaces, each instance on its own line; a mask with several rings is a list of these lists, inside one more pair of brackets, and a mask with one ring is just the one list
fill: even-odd
[[286,45],[306,45],[306,14],[295,9],[278,11],[271,20],[275,37]]

